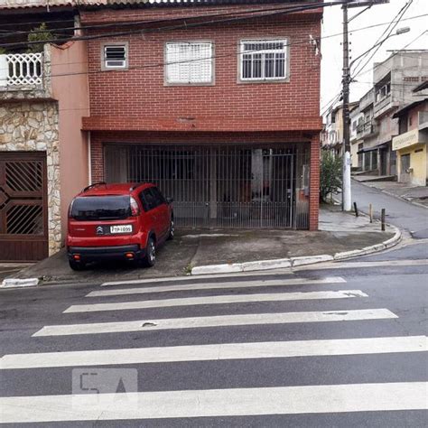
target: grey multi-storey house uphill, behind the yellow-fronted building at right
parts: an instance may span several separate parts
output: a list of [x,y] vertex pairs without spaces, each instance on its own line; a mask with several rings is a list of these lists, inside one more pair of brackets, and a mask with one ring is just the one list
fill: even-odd
[[[414,101],[412,88],[428,75],[428,51],[393,51],[373,69],[373,88],[360,100],[365,115],[362,154],[358,166],[362,171],[381,176],[397,174],[392,140],[398,135],[395,112]],[[367,126],[367,130],[366,130]]]

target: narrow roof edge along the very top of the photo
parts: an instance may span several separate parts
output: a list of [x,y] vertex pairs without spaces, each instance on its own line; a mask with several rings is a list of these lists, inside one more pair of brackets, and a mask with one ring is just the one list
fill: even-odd
[[319,0],[0,0],[0,9],[28,9],[55,6],[125,5],[237,5],[272,3],[316,3]]

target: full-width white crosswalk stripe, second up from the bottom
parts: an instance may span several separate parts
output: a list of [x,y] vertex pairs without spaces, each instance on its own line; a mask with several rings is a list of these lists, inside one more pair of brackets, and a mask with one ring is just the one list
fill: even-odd
[[115,364],[386,354],[423,352],[427,350],[426,336],[222,343],[158,348],[11,354],[0,358],[0,369],[95,367]]

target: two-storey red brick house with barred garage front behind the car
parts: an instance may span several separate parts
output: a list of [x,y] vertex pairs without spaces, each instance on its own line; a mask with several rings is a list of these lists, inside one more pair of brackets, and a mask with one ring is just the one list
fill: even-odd
[[156,182],[178,226],[317,229],[322,9],[312,3],[80,10],[92,181]]

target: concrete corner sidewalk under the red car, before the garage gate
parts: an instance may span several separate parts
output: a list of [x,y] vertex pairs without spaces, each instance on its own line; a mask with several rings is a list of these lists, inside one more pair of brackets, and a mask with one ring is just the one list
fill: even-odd
[[[291,265],[290,258],[293,257],[324,255],[332,259],[337,253],[370,246],[382,249],[384,247],[379,244],[394,237],[395,231],[395,228],[388,227],[382,232],[379,223],[370,224],[367,217],[356,218],[355,215],[342,213],[339,207],[326,206],[321,209],[320,230],[317,232],[286,229],[177,230],[174,240],[159,249],[157,263],[150,269],[110,263],[74,272],[68,265],[65,250],[62,250],[55,256],[13,274],[13,277],[39,278],[41,284],[102,283],[196,274],[200,266],[206,265],[259,263],[278,259],[287,259]],[[352,253],[352,256],[357,255]],[[302,260],[295,263],[305,264]],[[280,266],[284,267],[284,262],[276,267]],[[253,264],[248,270],[257,270],[256,267]]]

